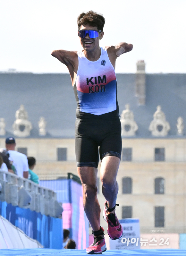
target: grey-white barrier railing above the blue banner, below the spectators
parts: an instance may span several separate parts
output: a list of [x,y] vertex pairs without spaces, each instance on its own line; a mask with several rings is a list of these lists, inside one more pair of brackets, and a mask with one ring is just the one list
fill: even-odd
[[56,193],[48,188],[0,169],[0,201],[58,218],[63,212]]

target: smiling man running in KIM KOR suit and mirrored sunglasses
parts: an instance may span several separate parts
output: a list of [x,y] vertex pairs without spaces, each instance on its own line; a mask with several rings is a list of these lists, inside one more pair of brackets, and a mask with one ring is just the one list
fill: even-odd
[[[119,239],[122,226],[115,214],[118,172],[122,139],[117,103],[115,61],[132,50],[132,44],[99,47],[105,19],[93,11],[78,17],[78,36],[82,51],[57,50],[51,54],[65,64],[70,72],[77,109],[75,152],[77,171],[83,186],[84,210],[92,227],[94,242],[87,254],[106,251],[104,229],[100,227],[100,206],[97,200],[97,166],[101,158],[100,179],[105,196],[104,219],[108,235]],[[99,147],[99,152],[98,152]]]

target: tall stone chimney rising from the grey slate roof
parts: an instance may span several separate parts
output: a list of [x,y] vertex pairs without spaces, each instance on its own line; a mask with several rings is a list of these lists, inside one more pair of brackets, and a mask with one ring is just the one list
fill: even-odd
[[138,61],[136,63],[137,71],[136,71],[136,97],[138,97],[138,105],[145,105],[145,81],[146,81],[146,73],[145,73],[145,62],[143,60]]

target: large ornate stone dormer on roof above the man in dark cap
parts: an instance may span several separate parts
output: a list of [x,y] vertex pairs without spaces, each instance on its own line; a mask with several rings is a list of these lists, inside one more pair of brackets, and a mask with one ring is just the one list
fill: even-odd
[[13,123],[13,134],[17,137],[28,137],[30,136],[30,130],[32,129],[32,124],[28,120],[28,113],[21,105],[15,113],[15,122]]

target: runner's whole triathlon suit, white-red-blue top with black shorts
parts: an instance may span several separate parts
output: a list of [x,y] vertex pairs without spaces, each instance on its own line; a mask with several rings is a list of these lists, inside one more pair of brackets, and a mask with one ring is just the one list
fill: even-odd
[[[79,66],[73,86],[76,101],[75,152],[77,167],[98,166],[105,156],[121,159],[121,122],[117,103],[117,82],[107,51],[89,61],[78,52]],[[99,153],[98,153],[99,147]]]

